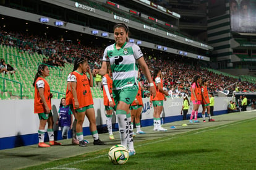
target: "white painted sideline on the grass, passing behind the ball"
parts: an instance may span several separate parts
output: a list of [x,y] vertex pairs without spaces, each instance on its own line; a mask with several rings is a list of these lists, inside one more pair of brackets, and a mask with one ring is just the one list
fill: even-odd
[[[192,132],[191,134],[187,134],[187,135],[200,134],[202,132],[207,132],[207,131],[210,131],[210,130],[221,129],[221,128],[227,127],[229,125],[237,125],[237,124],[241,124],[241,123],[244,123],[244,122],[254,121],[255,119],[256,118],[252,118],[252,119],[248,119],[248,120],[245,120],[245,121],[239,121],[239,122],[236,122],[236,123],[231,123],[231,124],[227,124],[227,125],[221,125],[220,127],[216,127],[216,128],[213,128],[213,129],[202,130],[200,132]],[[145,145],[150,145],[150,144],[153,144],[153,143],[164,142],[166,140],[171,140],[173,138],[178,138],[178,137],[170,137],[170,138],[166,138],[166,139],[162,139],[162,140],[156,140],[156,141],[150,142],[150,143],[143,143],[142,145],[137,145],[137,147],[143,147]],[[137,147],[134,147],[134,148],[137,148]],[[106,154],[106,155],[108,155],[108,154]],[[69,165],[72,165],[72,164],[77,164],[77,163],[82,163],[82,162],[90,161],[92,159],[101,158],[101,157],[106,156],[106,155],[99,155],[99,156],[95,156],[93,158],[83,159],[83,160],[80,160],[80,161],[75,161],[75,162],[72,162],[72,163],[63,164],[61,166],[56,166],[55,168],[46,168],[44,170],[49,170],[49,169],[79,170],[77,168],[67,168],[65,166],[69,166]]]

